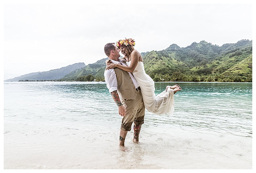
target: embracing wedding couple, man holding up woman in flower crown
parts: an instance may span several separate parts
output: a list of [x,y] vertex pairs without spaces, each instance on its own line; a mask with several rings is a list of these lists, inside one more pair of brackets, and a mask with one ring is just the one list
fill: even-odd
[[[174,111],[174,94],[181,90],[178,85],[167,86],[165,91],[156,96],[154,81],[145,73],[142,56],[134,46],[134,39],[124,39],[116,44],[107,43],[104,47],[109,58],[104,72],[106,86],[118,106],[119,115],[123,117],[119,134],[120,146],[124,146],[132,123],[133,142],[139,142],[145,108],[154,114],[171,116]],[[124,54],[122,59],[119,59],[119,51]]]

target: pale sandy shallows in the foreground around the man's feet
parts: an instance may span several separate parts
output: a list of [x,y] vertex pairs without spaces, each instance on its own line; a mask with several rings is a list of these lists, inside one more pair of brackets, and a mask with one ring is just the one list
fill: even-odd
[[4,169],[252,169],[251,138],[144,126],[139,144],[128,132],[124,152],[118,135],[118,127],[4,123]]

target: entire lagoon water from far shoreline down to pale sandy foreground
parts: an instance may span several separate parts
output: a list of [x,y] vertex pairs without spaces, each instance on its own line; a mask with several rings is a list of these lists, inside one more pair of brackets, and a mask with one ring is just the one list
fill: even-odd
[[4,168],[252,169],[252,83],[177,84],[174,115],[146,111],[123,152],[104,82],[5,82]]

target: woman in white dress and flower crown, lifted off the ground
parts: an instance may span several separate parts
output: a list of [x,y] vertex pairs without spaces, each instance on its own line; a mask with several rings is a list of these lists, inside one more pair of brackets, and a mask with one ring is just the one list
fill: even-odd
[[140,52],[134,49],[134,39],[124,39],[116,42],[116,46],[121,50],[124,57],[121,60],[126,60],[128,66],[115,64],[107,61],[106,70],[119,68],[124,71],[132,72],[135,79],[140,84],[141,94],[144,105],[149,112],[154,114],[169,114],[174,112],[174,94],[181,90],[177,84],[167,86],[165,91],[155,95],[155,83],[148,74],[145,73],[144,64]]

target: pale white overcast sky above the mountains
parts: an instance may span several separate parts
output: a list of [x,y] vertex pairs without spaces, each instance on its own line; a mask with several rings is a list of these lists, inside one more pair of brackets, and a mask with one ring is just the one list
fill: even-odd
[[253,37],[249,3],[29,2],[3,4],[4,80],[95,63],[106,58],[106,43],[125,37],[135,39],[140,52],[164,50],[171,44],[187,47],[202,40],[222,46]]

